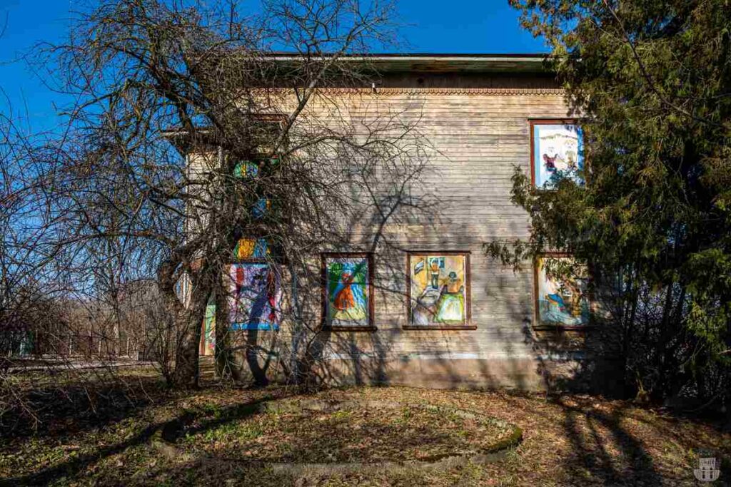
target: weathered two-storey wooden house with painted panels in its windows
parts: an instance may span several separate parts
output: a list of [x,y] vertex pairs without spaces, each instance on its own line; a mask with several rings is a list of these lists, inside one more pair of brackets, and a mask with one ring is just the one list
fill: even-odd
[[[334,384],[607,388],[612,376],[589,351],[589,276],[557,282],[541,259],[514,271],[485,255],[485,242],[528,237],[529,215],[510,201],[516,167],[545,187],[583,165],[580,125],[542,55],[369,61],[378,83],[330,88],[327,100],[351,122],[374,110],[414,120],[428,157],[409,210],[390,219],[364,210],[344,239],[312,253],[318,279],[298,284],[313,303],[299,310],[317,323],[308,331],[291,318],[292,276],[273,272],[266,239],[242,239],[227,275],[227,323],[209,306],[201,353],[213,353],[224,326],[240,340],[240,367],[269,380],[297,367],[292,356],[306,344],[319,377]],[[256,166],[242,167],[256,175]]]

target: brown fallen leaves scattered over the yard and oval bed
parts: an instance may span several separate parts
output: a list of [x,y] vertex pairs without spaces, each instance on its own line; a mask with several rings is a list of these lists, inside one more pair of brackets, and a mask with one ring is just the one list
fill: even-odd
[[[431,391],[411,388],[349,388],[322,391],[314,397],[333,402],[384,400],[403,404],[436,404],[494,416],[523,428],[523,442],[505,459],[492,464],[467,464],[444,470],[378,467],[359,472],[289,476],[257,459],[328,461],[366,458],[423,459],[433,450],[469,448],[491,432],[489,425],[469,418],[452,418],[419,407],[390,411],[352,410],[344,413],[279,413],[242,421],[242,404],[259,399],[298,399],[284,388],[260,391],[209,388],[164,398],[126,417],[64,434],[3,438],[0,479],[48,472],[37,483],[58,485],[281,486],[568,486],[568,485],[694,485],[697,452],[713,449],[719,458],[731,456],[731,435],[711,426],[675,418],[667,412],[591,396],[557,400],[506,391]],[[307,396],[311,398],[313,396]],[[289,400],[284,399],[284,400]],[[198,435],[222,428],[199,445],[183,434],[186,456],[167,459],[146,442],[135,442],[146,428],[189,414],[186,427]],[[318,421],[314,421],[314,418]],[[86,417],[85,417],[86,418]],[[85,419],[88,421],[88,419]],[[224,424],[232,424],[230,429]],[[256,426],[256,427],[254,427]],[[113,453],[104,453],[110,451]],[[410,452],[410,453],[409,453]],[[73,463],[75,458],[80,463]],[[402,457],[403,458],[403,457]],[[242,461],[245,460],[245,461]],[[695,462],[695,463],[694,463]],[[728,460],[726,460],[728,462]],[[724,466],[728,463],[724,463]],[[67,470],[68,468],[68,470]],[[56,470],[53,470],[56,469]],[[51,472],[56,472],[51,475]],[[725,473],[723,474],[725,475]]]

